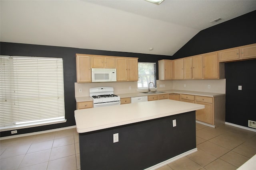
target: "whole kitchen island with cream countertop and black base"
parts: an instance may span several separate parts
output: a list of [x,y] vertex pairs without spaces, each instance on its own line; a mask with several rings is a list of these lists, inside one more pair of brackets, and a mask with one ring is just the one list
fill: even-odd
[[195,110],[203,108],[166,99],[76,110],[81,170],[150,169],[195,152]]

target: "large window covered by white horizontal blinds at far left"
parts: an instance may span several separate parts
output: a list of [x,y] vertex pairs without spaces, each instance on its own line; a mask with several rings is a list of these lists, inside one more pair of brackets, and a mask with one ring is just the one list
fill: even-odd
[[63,61],[0,57],[0,131],[65,122]]

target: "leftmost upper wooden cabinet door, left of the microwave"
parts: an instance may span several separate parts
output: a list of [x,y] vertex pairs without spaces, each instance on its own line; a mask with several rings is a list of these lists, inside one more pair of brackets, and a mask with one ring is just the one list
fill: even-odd
[[76,55],[76,82],[92,82],[90,56]]

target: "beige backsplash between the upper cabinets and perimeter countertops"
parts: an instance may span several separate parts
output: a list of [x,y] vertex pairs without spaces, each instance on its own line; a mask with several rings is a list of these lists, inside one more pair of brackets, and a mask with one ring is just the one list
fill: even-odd
[[[184,87],[184,84],[186,87]],[[208,88],[210,85],[210,88]],[[110,86],[115,94],[136,93],[137,82],[75,83],[75,96],[89,96],[92,87]],[[190,90],[198,92],[226,93],[226,79],[220,80],[156,80],[157,90]],[[79,90],[82,92],[79,92]]]

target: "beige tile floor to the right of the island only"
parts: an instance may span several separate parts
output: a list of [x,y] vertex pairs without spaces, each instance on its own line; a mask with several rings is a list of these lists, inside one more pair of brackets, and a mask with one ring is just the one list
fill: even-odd
[[229,125],[196,123],[197,152],[158,170],[236,170],[256,154],[256,133]]

